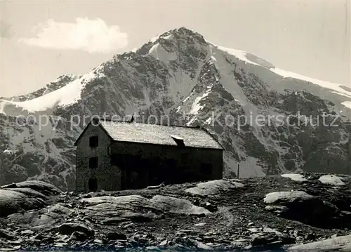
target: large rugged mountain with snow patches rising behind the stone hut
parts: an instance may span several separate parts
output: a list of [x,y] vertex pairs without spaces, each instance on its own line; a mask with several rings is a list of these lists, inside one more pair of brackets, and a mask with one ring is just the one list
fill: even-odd
[[88,117],[134,113],[142,122],[206,127],[225,147],[227,178],[238,164],[240,177],[351,172],[350,88],[286,72],[184,27],[30,97],[0,100],[2,185],[28,178],[72,189],[73,142]]

